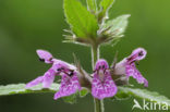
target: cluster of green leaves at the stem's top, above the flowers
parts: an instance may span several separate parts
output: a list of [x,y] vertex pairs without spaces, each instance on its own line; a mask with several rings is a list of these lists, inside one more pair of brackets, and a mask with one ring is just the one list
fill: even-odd
[[66,36],[66,42],[100,45],[112,41],[125,32],[130,15],[121,15],[105,22],[114,0],[101,0],[99,10],[96,0],[86,1],[87,9],[78,0],[64,0],[64,14],[72,34]]

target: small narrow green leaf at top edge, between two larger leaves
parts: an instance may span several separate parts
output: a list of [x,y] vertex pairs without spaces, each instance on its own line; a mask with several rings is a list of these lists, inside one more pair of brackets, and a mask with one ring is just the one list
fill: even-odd
[[87,2],[88,10],[96,13],[97,11],[96,0],[86,0],[86,2]]

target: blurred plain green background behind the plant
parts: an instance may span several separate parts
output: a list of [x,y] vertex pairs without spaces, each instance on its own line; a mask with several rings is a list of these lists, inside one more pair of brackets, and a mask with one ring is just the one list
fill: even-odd
[[[85,0],[82,0],[85,2]],[[110,18],[131,14],[124,38],[114,47],[101,47],[101,58],[119,61],[137,47],[147,49],[138,69],[149,82],[149,90],[170,97],[170,1],[117,0]],[[49,50],[56,58],[73,62],[74,52],[90,72],[90,49],[62,43],[65,23],[62,0],[0,0],[0,85],[27,83],[49,67],[38,61],[36,49]],[[132,83],[136,84],[134,79]],[[136,86],[136,85],[135,85]],[[143,86],[136,86],[143,88]],[[2,112],[93,112],[88,95],[76,104],[52,100],[52,94],[0,97]],[[133,98],[107,101],[106,112],[131,112]],[[138,110],[134,110],[137,112]]]

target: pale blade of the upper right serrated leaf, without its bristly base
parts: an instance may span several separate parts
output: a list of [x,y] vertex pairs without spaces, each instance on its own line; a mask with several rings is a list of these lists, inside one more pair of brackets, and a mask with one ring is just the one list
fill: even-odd
[[127,18],[130,17],[129,14],[118,16],[114,20],[108,21],[104,28],[108,29],[106,30],[107,35],[112,35],[113,37],[121,36],[125,32],[125,28],[127,26]]

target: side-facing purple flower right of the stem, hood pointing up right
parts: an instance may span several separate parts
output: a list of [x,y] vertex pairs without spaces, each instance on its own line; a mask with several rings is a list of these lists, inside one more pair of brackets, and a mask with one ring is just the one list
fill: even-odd
[[116,64],[114,74],[125,74],[127,79],[130,76],[132,76],[138,82],[138,84],[144,84],[145,87],[148,87],[147,79],[143,77],[143,75],[135,66],[135,62],[143,60],[146,57],[146,50],[143,48],[135,49],[130,57],[123,59],[121,62]]

